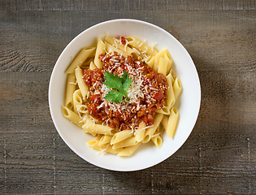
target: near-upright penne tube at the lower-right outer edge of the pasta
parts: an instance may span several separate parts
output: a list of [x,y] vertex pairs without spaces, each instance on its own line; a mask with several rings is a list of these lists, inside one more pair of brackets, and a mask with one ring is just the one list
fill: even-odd
[[168,119],[167,128],[165,129],[167,132],[167,136],[173,138],[175,136],[176,127],[179,119],[179,111],[176,109],[175,106],[171,108],[171,115]]

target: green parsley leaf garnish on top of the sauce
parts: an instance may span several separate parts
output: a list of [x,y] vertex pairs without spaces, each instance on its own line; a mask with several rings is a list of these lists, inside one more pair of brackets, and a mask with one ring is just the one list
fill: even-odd
[[118,90],[109,91],[105,96],[106,100],[118,103],[123,100],[123,96],[128,98],[126,91],[131,85],[132,79],[128,77],[128,73],[126,71],[124,71],[123,78],[105,71],[104,79],[105,81],[103,84],[106,85],[107,88]]

